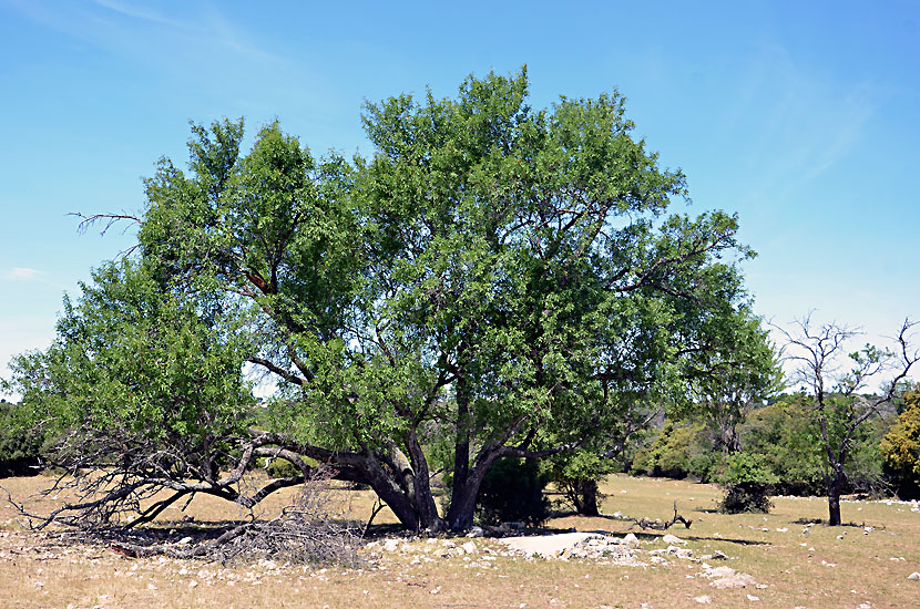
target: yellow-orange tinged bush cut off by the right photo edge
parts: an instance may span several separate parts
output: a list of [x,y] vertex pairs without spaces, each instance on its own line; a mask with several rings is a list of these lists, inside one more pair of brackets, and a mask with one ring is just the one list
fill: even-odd
[[920,498],[920,392],[904,394],[901,413],[880,451],[898,495]]

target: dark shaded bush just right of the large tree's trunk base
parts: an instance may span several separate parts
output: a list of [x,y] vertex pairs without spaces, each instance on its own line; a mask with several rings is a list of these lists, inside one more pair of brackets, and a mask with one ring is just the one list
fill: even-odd
[[550,476],[538,460],[498,460],[479,489],[479,520],[484,525],[507,522],[542,525],[550,517],[550,502],[543,493],[549,482]]

